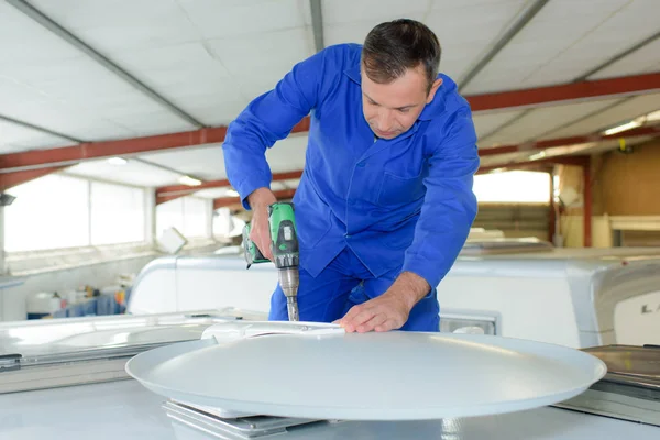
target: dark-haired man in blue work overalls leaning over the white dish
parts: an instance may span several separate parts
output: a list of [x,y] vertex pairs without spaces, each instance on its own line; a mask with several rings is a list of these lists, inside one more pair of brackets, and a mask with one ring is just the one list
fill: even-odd
[[[227,174],[253,210],[251,239],[272,258],[265,151],[311,112],[294,198],[300,320],[348,332],[439,330],[436,286],[476,215],[479,167],[469,105],[438,75],[439,62],[426,25],[383,23],[363,46],[331,46],[297,64],[230,124]],[[279,286],[270,319],[287,319]]]

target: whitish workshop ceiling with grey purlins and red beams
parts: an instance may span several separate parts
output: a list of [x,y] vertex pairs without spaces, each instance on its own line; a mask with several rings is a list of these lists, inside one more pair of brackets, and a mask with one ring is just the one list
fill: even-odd
[[[1,1],[0,175],[70,165],[64,173],[147,187],[177,185],[182,176],[223,180],[220,132],[213,142],[204,142],[204,133],[198,136],[202,141],[190,144],[164,142],[163,151],[156,144],[131,152],[131,145],[144,136],[226,127],[251,99],[273,88],[320,46],[360,43],[375,24],[400,16],[420,20],[437,32],[443,48],[441,70],[469,101],[488,95],[495,102],[507,94],[522,94],[516,98],[521,103],[504,107],[482,99],[474,122],[481,151],[521,146],[484,155],[482,165],[525,162],[538,151],[530,153],[524,145],[603,133],[660,110],[657,1],[598,0],[597,8],[594,3]],[[640,75],[646,76],[626,82]],[[614,91],[590,92],[588,84],[607,80],[598,90]],[[583,95],[552,98],[554,87],[583,81]],[[629,84],[635,87],[628,90]],[[549,88],[546,98],[526,103],[521,97],[536,88]],[[658,127],[660,118],[637,122]],[[652,139],[653,133],[638,132],[629,142]],[[102,154],[85,154],[87,145],[122,140],[117,151],[128,160],[123,165],[111,164]],[[268,150],[273,172],[302,169],[306,142],[302,128]],[[601,136],[552,145],[549,156],[612,150],[617,141]],[[76,160],[59,154],[75,146],[80,151]],[[23,163],[21,154],[34,158],[35,151],[44,154],[34,162],[37,165],[6,165]],[[108,155],[114,155],[110,146]],[[296,185],[296,179],[285,179],[274,188]],[[228,190],[207,187],[196,195],[223,198]]]

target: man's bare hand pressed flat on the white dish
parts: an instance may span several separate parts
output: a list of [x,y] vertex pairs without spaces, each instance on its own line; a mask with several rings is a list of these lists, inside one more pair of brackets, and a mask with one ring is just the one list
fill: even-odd
[[348,333],[389,331],[402,328],[413,307],[430,292],[430,286],[417,274],[404,272],[383,295],[354,306],[337,323]]

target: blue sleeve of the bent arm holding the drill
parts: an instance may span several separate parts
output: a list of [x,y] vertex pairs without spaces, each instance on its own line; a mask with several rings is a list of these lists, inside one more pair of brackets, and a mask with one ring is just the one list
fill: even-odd
[[246,200],[250,194],[271,187],[273,175],[266,162],[266,148],[290,133],[318,105],[322,86],[331,82],[327,72],[328,52],[327,48],[296,64],[273,90],[250,102],[229,124],[222,144],[224,167],[245,209],[250,209]]

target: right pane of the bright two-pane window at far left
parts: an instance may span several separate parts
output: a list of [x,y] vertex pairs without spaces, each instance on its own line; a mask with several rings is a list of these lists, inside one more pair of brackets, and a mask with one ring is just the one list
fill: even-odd
[[91,183],[91,244],[144,241],[144,189]]

